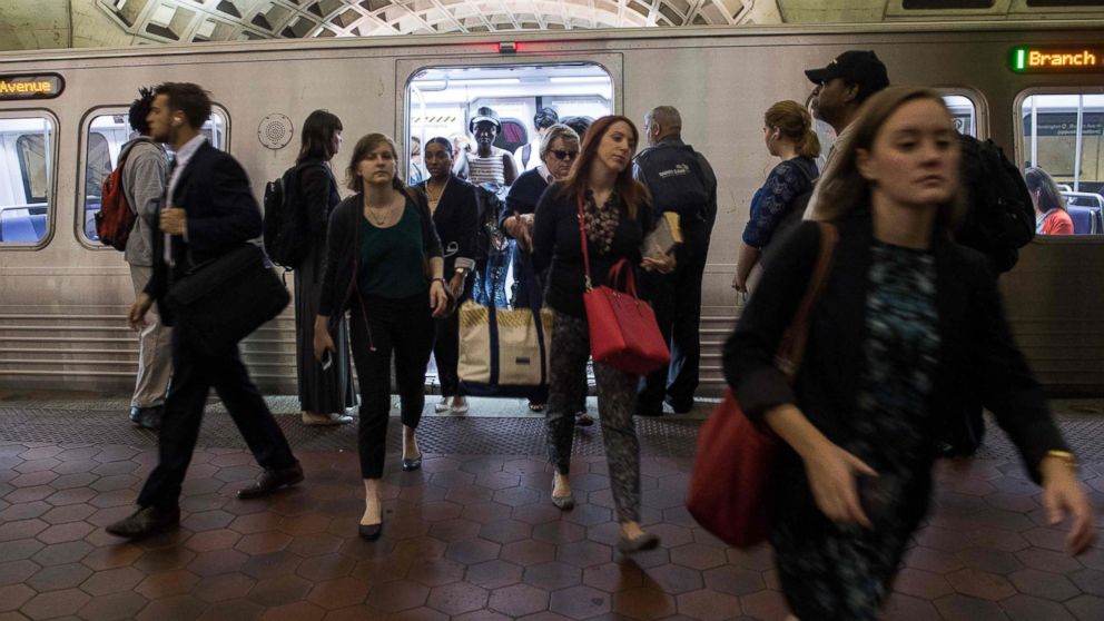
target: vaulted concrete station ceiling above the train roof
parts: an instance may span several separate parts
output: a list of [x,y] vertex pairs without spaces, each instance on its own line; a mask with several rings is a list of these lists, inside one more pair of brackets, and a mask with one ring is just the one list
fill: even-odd
[[[1065,3],[1066,7],[1053,4]],[[0,0],[0,50],[579,28],[1104,19],[1104,0]],[[936,8],[924,8],[936,7]],[[949,6],[973,8],[947,8]],[[942,8],[940,8],[942,7]]]

